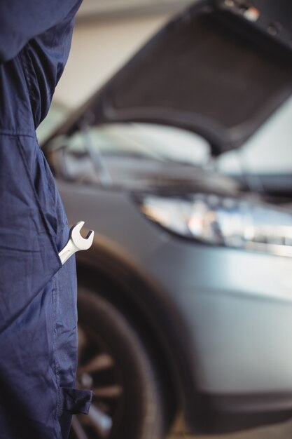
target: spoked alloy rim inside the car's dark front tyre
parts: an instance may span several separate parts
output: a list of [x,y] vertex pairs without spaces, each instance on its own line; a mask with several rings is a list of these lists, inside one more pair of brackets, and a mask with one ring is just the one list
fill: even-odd
[[111,439],[123,417],[122,374],[109,346],[82,323],[78,340],[77,387],[94,396],[89,413],[73,417],[70,439]]

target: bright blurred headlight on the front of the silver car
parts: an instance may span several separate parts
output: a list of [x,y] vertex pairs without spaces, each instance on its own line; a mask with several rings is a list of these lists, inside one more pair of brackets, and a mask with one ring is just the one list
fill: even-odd
[[212,245],[292,257],[292,215],[274,206],[195,194],[145,196],[140,209],[165,229]]

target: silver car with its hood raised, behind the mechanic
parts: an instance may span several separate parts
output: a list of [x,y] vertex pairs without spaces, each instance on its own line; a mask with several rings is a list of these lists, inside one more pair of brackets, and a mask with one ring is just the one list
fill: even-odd
[[291,6],[269,5],[197,2],[43,145],[96,232],[78,255],[95,397],[72,438],[291,417]]

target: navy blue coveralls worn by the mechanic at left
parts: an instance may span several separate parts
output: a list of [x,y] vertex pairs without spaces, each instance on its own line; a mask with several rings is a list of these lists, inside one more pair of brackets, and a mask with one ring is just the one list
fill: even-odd
[[0,439],[67,438],[91,392],[76,378],[76,272],[35,129],[81,0],[0,0]]

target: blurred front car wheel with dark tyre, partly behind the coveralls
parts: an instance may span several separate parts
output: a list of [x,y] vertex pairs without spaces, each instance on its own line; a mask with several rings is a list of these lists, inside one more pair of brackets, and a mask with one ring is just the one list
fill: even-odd
[[123,314],[96,292],[78,292],[80,389],[92,389],[88,415],[73,418],[70,439],[161,439],[165,412],[148,352]]

